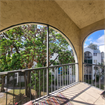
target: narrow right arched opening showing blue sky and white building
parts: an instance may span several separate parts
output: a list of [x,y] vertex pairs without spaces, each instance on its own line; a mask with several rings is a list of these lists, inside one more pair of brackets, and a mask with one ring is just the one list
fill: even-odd
[[104,89],[105,31],[91,33],[83,42],[84,81]]

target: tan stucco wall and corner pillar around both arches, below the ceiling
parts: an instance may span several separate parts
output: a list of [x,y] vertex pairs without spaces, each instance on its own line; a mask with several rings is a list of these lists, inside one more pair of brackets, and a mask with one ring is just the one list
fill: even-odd
[[0,31],[26,22],[49,24],[69,38],[77,54],[79,80],[82,80],[83,40],[91,32],[104,29],[105,19],[80,30],[54,0],[0,0]]

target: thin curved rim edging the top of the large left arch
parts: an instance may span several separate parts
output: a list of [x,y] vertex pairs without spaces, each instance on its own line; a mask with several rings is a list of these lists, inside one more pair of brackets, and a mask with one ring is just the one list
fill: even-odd
[[59,29],[57,29],[56,27],[51,26],[51,25],[49,25],[49,24],[41,23],[41,22],[25,22],[25,23],[20,23],[20,24],[16,24],[16,25],[9,26],[9,27],[7,27],[7,28],[5,28],[5,29],[0,30],[0,32],[4,32],[4,31],[9,30],[9,29],[11,29],[11,28],[18,27],[18,26],[22,26],[22,25],[28,25],[28,24],[46,25],[46,26],[50,26],[50,27],[52,27],[53,29],[55,29],[55,30],[57,30],[58,32],[60,32],[60,34],[66,39],[66,41],[69,43],[70,47],[71,47],[72,50],[73,50],[75,63],[78,63],[77,53],[76,53],[75,48],[74,48],[73,44],[71,43],[70,39],[69,39],[63,32],[61,32]]

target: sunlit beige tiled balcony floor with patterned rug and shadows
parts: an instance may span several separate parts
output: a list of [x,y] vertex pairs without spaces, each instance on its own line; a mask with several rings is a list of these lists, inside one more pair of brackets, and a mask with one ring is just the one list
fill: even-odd
[[[59,93],[51,94],[36,103],[38,104],[66,104],[66,105],[104,105],[105,100],[100,95],[103,91],[84,82],[78,82],[67,86],[67,89]],[[58,102],[52,102],[55,98]],[[63,99],[62,99],[63,98]],[[46,101],[47,100],[47,101]],[[33,102],[34,103],[34,102]]]

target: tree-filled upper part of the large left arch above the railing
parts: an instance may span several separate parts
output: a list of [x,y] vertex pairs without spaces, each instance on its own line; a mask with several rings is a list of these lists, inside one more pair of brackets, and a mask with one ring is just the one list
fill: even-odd
[[0,71],[74,63],[75,52],[55,28],[23,24],[0,34]]

